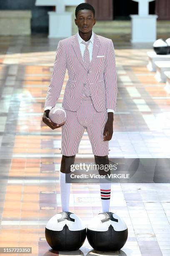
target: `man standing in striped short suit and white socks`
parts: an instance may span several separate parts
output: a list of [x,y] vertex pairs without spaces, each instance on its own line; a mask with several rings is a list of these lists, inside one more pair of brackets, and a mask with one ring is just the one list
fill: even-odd
[[[109,141],[113,133],[113,113],[116,111],[117,77],[112,40],[92,31],[95,10],[88,3],[75,9],[78,32],[59,41],[53,73],[47,91],[43,122],[50,128],[62,126],[60,192],[62,211],[69,211],[70,184],[65,183],[65,161],[74,164],[75,155],[86,129],[96,164],[108,164]],[[62,107],[67,112],[65,123],[57,126],[48,118],[62,89],[66,69],[69,79]],[[99,169],[99,174],[102,174]],[[100,183],[102,211],[109,212],[110,183]]]

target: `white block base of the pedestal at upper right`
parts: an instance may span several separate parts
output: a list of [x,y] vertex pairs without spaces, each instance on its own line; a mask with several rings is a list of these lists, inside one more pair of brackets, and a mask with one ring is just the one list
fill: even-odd
[[158,15],[130,15],[132,26],[131,43],[154,43]]

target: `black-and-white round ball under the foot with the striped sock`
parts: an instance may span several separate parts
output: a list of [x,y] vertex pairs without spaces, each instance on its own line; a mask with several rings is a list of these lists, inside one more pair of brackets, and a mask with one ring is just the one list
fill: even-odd
[[128,228],[117,214],[102,212],[87,225],[87,240],[96,251],[118,251],[128,239]]

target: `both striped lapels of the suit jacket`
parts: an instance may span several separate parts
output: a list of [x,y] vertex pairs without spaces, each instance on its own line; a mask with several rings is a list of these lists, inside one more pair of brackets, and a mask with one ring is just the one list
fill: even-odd
[[[80,51],[80,45],[79,45],[79,42],[78,42],[77,34],[75,34],[72,38],[72,47],[75,51],[75,54],[77,55],[77,58],[82,63],[83,67],[85,67],[85,69],[87,69],[87,67],[84,63],[84,60],[82,58],[82,54],[81,54],[81,51]],[[99,40],[98,36],[94,33],[94,44],[93,44],[93,49],[92,49],[92,60],[90,61],[90,66],[88,67],[88,69],[91,67],[93,61],[96,59],[99,48],[100,48],[100,40]]]

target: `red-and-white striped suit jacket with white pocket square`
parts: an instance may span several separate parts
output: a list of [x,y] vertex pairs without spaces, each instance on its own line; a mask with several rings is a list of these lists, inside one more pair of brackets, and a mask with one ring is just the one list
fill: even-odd
[[92,60],[88,68],[82,58],[77,34],[59,41],[44,107],[55,106],[66,69],[68,80],[62,101],[64,109],[76,111],[80,107],[88,80],[92,102],[97,112],[107,108],[116,111],[117,76],[111,39],[94,33]]

